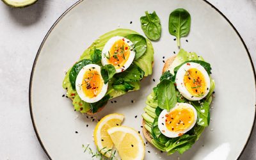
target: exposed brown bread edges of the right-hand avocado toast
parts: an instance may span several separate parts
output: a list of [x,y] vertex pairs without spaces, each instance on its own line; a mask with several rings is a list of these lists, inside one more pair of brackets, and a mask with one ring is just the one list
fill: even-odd
[[[176,55],[171,56],[170,58],[168,58],[168,60],[165,61],[162,74],[170,69],[175,58],[176,58]],[[148,132],[147,129],[144,127],[144,125],[145,125],[145,120],[142,120],[143,136],[149,143],[152,143],[153,138],[152,138],[150,132]]]

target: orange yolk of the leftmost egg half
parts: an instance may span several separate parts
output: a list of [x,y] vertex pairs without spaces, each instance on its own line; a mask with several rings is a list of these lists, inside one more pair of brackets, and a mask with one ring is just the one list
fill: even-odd
[[99,95],[102,90],[103,82],[101,76],[95,68],[86,70],[83,76],[83,92],[86,97],[93,98]]

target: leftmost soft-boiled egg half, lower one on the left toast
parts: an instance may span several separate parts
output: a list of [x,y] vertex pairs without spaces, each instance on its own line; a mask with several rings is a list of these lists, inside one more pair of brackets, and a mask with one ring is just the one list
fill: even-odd
[[104,97],[108,83],[100,74],[100,66],[90,64],[84,66],[76,78],[76,91],[79,97],[88,103],[97,102]]

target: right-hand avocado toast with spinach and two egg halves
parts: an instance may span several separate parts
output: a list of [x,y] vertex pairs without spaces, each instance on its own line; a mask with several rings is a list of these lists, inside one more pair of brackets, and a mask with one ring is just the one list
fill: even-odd
[[169,58],[142,114],[147,141],[168,155],[191,148],[209,125],[214,86],[211,65],[195,52]]

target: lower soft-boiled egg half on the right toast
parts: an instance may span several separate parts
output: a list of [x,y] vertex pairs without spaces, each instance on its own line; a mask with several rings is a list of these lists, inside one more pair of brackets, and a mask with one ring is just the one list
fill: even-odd
[[158,117],[158,127],[164,136],[182,136],[196,124],[196,109],[188,103],[177,103],[169,112],[164,109]]

